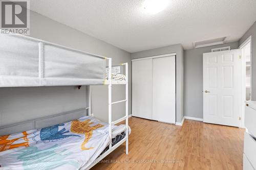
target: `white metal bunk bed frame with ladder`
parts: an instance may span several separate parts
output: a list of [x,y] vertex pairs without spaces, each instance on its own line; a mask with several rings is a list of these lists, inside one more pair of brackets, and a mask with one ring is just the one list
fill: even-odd
[[[32,37],[28,37],[28,36],[24,36],[24,35],[15,35],[15,36],[20,36],[20,37],[23,37],[25,39],[30,39],[30,40],[34,40],[34,41],[37,41],[38,42],[38,57],[39,57],[39,63],[41,62],[41,58],[43,56],[43,45],[44,44],[51,44],[51,45],[54,45],[54,46],[57,46],[57,47],[60,47],[60,48],[64,48],[66,50],[71,50],[71,51],[76,51],[76,52],[80,52],[80,53],[83,53],[83,54],[88,54],[88,55],[92,55],[92,56],[95,56],[95,57],[100,57],[100,58],[105,58],[106,60],[108,60],[108,66],[109,66],[109,74],[108,74],[108,80],[105,80],[103,85],[108,85],[108,90],[109,90],[109,137],[110,137],[110,144],[109,144],[109,149],[104,152],[102,155],[100,155],[92,164],[90,164],[88,167],[81,167],[80,169],[90,169],[91,167],[93,167],[95,164],[97,164],[100,160],[102,160],[104,157],[106,157],[107,155],[109,155],[112,151],[114,151],[116,148],[118,148],[122,143],[125,143],[125,153],[128,154],[129,152],[129,148],[128,148],[128,145],[129,145],[129,141],[128,141],[128,136],[129,136],[129,125],[128,125],[128,63],[123,63],[123,64],[118,64],[120,66],[122,65],[125,65],[125,77],[126,77],[126,80],[125,81],[113,81],[112,80],[112,58],[106,58],[106,57],[103,57],[103,56],[100,56],[100,55],[96,55],[96,54],[92,54],[92,53],[87,53],[87,52],[83,52],[83,51],[80,51],[80,50],[76,50],[74,48],[71,48],[71,47],[66,47],[66,46],[63,46],[63,45],[59,45],[59,44],[56,44],[56,43],[52,43],[52,42],[48,42],[48,41],[44,41],[44,40],[40,40],[40,39],[37,39],[37,38],[32,38]],[[41,72],[40,72],[40,64],[39,64],[39,78],[41,77]],[[112,102],[112,84],[123,84],[125,85],[125,100],[121,100],[121,101],[116,101],[116,102]],[[79,84],[78,84],[79,86]],[[91,88],[90,88],[90,85],[88,85],[88,90],[89,90],[89,107],[86,108],[86,110],[89,110],[89,115],[90,116],[93,116],[93,114],[91,113]],[[114,122],[112,122],[112,105],[113,104],[117,104],[117,103],[121,103],[121,102],[125,102],[125,116],[118,119],[118,120],[115,120]],[[61,114],[58,114],[57,116],[59,115],[62,115],[62,114],[67,114],[69,112],[66,112],[66,113],[61,113]],[[70,112],[72,113],[72,111]],[[54,117],[54,116],[47,116],[45,118],[51,118],[51,117]],[[40,119],[44,119],[44,117],[42,118],[39,118],[39,119],[32,119],[32,120],[28,120],[26,122],[22,122],[22,123],[16,123],[16,124],[12,124],[12,125],[23,125],[25,123],[28,123],[28,122],[33,122],[34,125],[36,123],[36,120],[40,120]],[[120,140],[119,142],[117,142],[115,145],[112,146],[112,125],[115,125],[119,122],[121,122],[122,120],[125,120],[125,127],[126,127],[126,130],[125,130],[125,137]],[[3,127],[0,127],[0,130],[1,129],[4,129],[4,128],[9,128],[11,127],[12,125],[8,125],[8,126],[3,126]]]

